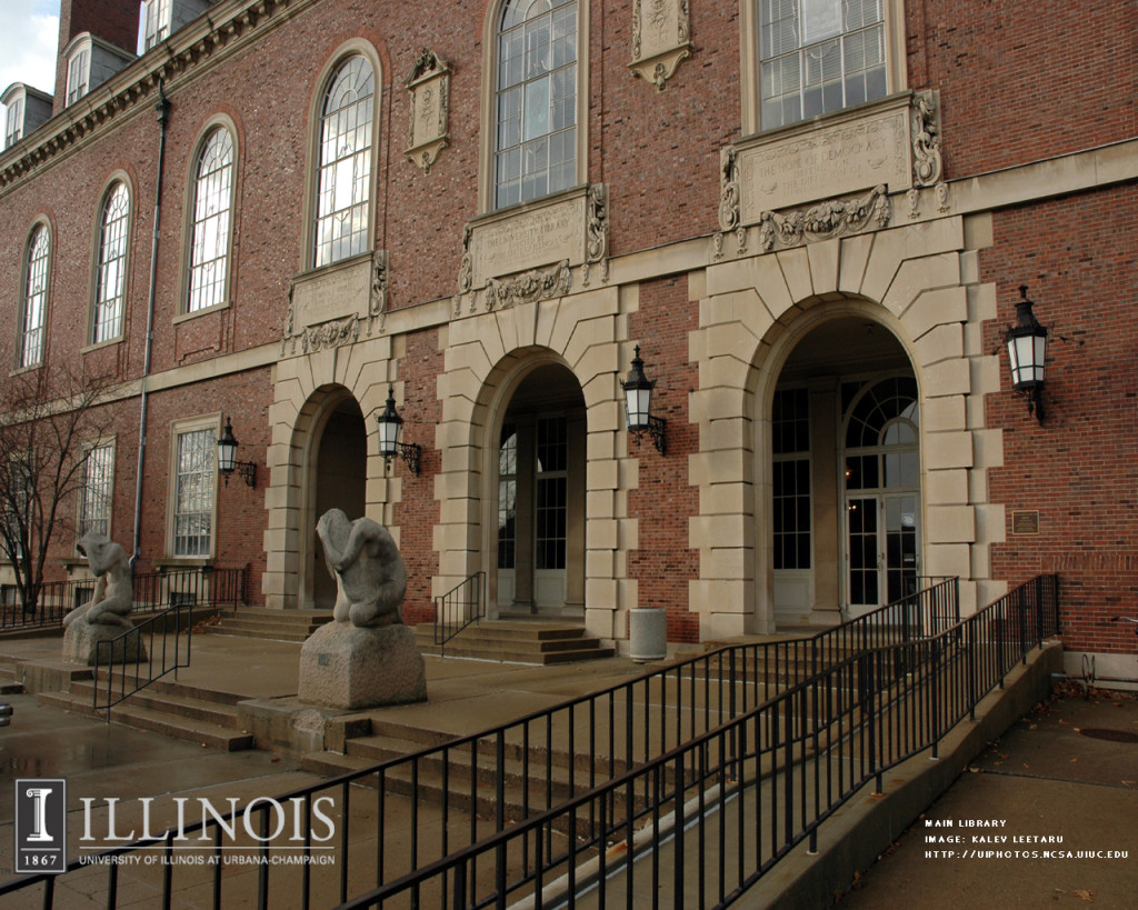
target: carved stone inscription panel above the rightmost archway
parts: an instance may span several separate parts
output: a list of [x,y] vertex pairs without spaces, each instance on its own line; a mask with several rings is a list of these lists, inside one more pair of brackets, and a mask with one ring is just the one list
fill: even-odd
[[736,148],[743,224],[868,187],[898,192],[913,185],[908,107]]

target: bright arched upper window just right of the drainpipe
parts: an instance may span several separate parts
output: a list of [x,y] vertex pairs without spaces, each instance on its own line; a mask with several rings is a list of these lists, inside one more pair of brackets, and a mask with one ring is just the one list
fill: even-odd
[[211,122],[191,159],[187,198],[185,299],[182,308],[185,315],[229,304],[237,208],[236,135],[232,124]]

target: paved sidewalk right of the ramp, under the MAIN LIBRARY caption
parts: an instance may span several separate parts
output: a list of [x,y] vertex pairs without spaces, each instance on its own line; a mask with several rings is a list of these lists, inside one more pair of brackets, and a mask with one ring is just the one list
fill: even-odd
[[[984,821],[996,826],[974,824]],[[1133,910],[1138,698],[1103,690],[1083,698],[1072,686],[1065,697],[1038,705],[853,883],[839,907]]]

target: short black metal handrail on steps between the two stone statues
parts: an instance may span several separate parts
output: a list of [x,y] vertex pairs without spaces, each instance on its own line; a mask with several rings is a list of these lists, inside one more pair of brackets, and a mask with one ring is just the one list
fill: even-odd
[[190,665],[193,603],[164,610],[94,646],[94,710],[106,711],[170,673]]

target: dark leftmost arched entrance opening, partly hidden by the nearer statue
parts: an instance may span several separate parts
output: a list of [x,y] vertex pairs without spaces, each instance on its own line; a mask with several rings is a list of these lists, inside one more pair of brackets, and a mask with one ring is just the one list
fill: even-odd
[[308,563],[312,580],[307,592],[318,610],[336,604],[336,580],[324,564],[316,537],[316,520],[329,508],[341,510],[355,520],[364,514],[368,488],[368,432],[363,412],[355,398],[341,398],[330,407],[308,465],[312,482],[312,521],[303,532],[308,536]]

